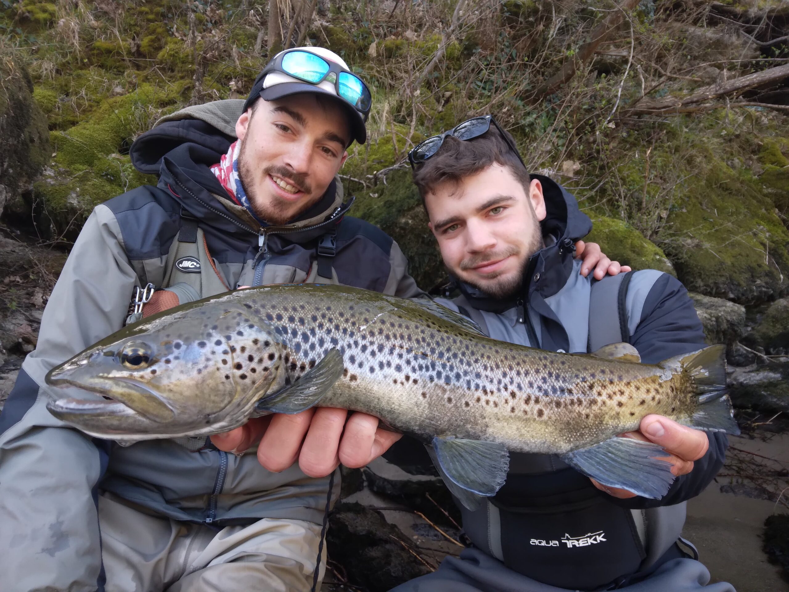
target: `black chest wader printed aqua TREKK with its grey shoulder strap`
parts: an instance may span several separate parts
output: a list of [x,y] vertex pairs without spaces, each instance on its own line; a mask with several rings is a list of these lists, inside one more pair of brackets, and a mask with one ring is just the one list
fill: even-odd
[[[626,295],[632,273],[592,283],[587,351],[630,341]],[[480,310],[462,296],[453,302],[490,335]],[[499,492],[476,511],[460,509],[475,546],[522,575],[566,590],[615,590],[637,581],[670,549],[677,556],[695,554],[679,538],[684,502],[621,508],[558,455],[510,453]],[[678,550],[678,540],[692,551]]]

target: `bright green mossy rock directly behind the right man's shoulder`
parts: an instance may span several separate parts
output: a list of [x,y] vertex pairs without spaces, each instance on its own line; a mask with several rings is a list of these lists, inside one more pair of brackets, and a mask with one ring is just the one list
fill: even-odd
[[603,253],[612,260],[618,260],[619,263],[630,265],[634,269],[657,269],[677,275],[663,250],[630,224],[594,214],[590,217],[593,222],[592,232],[587,234],[584,240],[598,243]]

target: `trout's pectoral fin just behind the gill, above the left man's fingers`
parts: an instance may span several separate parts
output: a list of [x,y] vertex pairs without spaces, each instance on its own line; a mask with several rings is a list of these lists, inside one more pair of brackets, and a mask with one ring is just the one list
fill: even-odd
[[309,369],[294,384],[261,399],[255,407],[256,413],[269,411],[294,414],[309,409],[329,392],[342,376],[344,367],[342,354],[336,349],[329,350],[314,368]]

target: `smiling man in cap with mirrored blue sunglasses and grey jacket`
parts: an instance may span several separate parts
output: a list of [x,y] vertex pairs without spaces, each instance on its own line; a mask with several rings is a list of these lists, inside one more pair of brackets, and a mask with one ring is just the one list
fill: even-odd
[[125,324],[237,287],[328,282],[421,295],[398,245],[346,215],[353,198],[336,175],[351,142],[365,142],[369,108],[367,87],[338,55],[297,48],[275,56],[245,102],[188,107],[134,142],[134,166],[159,182],[92,212],[0,415],[0,590],[320,585],[322,526],[339,485],[328,475],[398,438],[376,418],[309,410],[261,418],[216,445],[122,447],[53,418],[43,379]]

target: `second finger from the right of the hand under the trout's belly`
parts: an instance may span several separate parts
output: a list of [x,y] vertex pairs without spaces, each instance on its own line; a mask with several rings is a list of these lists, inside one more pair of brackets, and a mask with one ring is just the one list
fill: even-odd
[[325,477],[339,464],[337,451],[348,411],[319,407],[312,416],[298,464],[310,477]]

